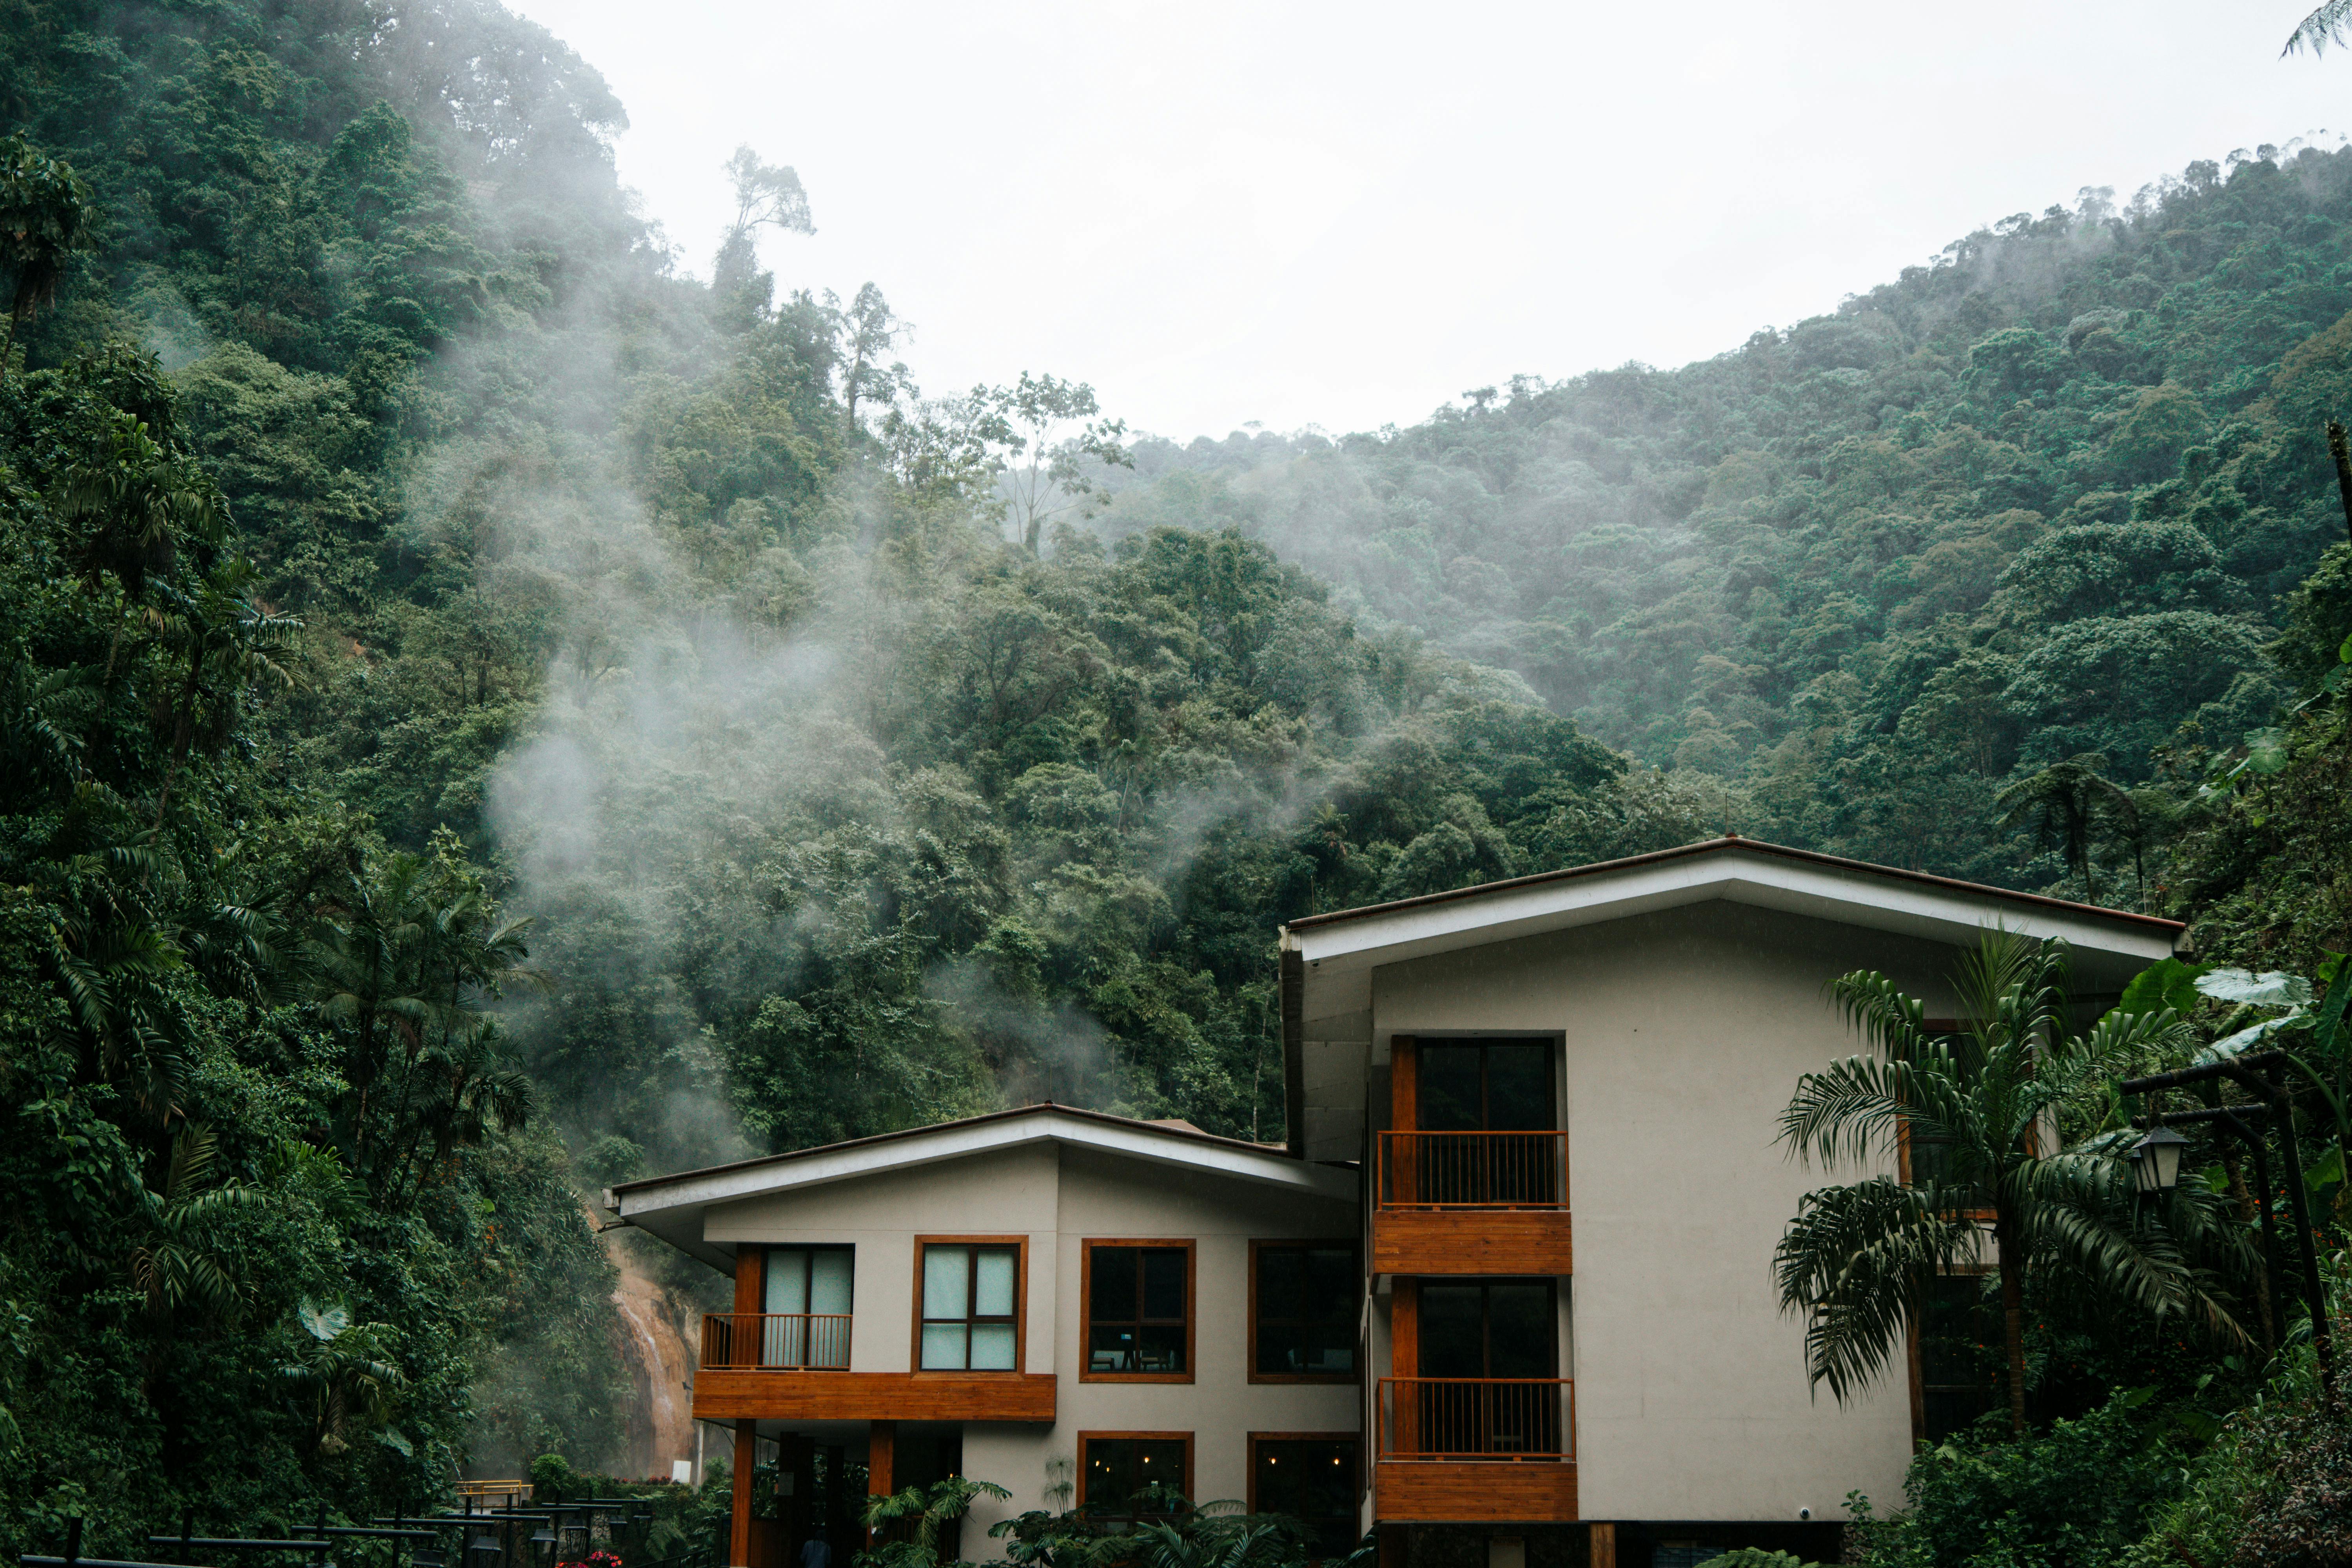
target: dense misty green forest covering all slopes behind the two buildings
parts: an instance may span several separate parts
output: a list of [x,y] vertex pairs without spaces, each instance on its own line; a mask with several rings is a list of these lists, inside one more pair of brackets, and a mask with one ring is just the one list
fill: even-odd
[[609,1462],[586,1192],[1270,1138],[1308,910],[1738,827],[2352,947],[2352,153],[1176,447],[922,397],[757,158],[701,282],[621,125],[489,0],[0,9],[0,1552]]

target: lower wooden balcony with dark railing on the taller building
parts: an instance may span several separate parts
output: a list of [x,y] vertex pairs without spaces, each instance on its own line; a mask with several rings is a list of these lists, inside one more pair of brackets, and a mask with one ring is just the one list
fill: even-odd
[[1428,1523],[1576,1519],[1576,1385],[1381,1378],[1374,1514]]

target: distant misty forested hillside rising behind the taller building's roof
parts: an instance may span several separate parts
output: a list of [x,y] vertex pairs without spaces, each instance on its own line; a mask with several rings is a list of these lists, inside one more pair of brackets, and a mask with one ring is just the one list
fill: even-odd
[[[2018,214],[1670,371],[1512,378],[1376,435],[1145,442],[1103,527],[1242,527],[1755,832],[2011,884],[2016,776],[2143,785],[2270,722],[2345,538],[2352,150]],[[2190,724],[2190,731],[2180,726]],[[2129,835],[2093,877],[2138,896]]]

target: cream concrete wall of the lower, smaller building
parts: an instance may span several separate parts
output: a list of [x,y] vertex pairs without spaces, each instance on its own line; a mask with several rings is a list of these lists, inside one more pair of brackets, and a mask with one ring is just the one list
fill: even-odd
[[[1355,1237],[1355,1204],[1214,1173],[1037,1145],[830,1182],[717,1208],[713,1241],[856,1246],[851,1371],[910,1368],[917,1234],[1025,1234],[1025,1371],[1058,1373],[1054,1427],[964,1425],[964,1474],[1011,1490],[964,1526],[967,1556],[1000,1556],[988,1526],[1065,1509],[1080,1432],[1192,1432],[1197,1500],[1249,1495],[1251,1432],[1355,1432],[1355,1385],[1249,1382],[1249,1244]],[[1080,1244],[1192,1239],[1192,1382],[1084,1382]],[[842,1434],[828,1436],[842,1441]],[[851,1439],[854,1441],[854,1439]]]

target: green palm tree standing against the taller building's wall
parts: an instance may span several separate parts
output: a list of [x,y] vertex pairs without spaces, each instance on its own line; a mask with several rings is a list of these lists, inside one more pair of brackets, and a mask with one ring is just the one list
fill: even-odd
[[2190,1044],[2171,1009],[2112,1011],[2070,1034],[2065,943],[1987,931],[1959,964],[1957,1034],[1931,1034],[1926,1004],[1856,971],[1830,983],[1870,1053],[1797,1081],[1780,1143],[1823,1166],[1917,1159],[1910,1180],[1875,1173],[1804,1194],[1773,1253],[1780,1305],[1806,1324],[1811,1382],[1844,1401],[1886,1368],[1931,1281],[1983,1260],[1987,1229],[2002,1288],[2009,1420],[2025,1432],[2025,1293],[2152,1319],[2197,1316],[2244,1333],[2206,1291],[2201,1260],[2246,1269],[2218,1199],[2180,1182],[2169,1211],[2136,1206],[2124,1135],[2056,1145],[2058,1112],[2157,1051]]

